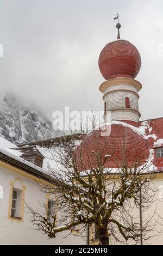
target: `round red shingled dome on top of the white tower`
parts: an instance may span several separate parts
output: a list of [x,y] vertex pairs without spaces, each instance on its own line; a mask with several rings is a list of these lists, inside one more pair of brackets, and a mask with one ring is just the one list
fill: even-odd
[[141,68],[141,57],[129,41],[117,40],[103,48],[98,65],[105,80],[116,77],[135,78]]

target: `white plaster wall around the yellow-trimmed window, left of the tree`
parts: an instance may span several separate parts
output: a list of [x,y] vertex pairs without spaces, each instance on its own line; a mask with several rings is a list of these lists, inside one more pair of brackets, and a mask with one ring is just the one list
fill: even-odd
[[0,245],[86,245],[86,237],[70,235],[65,239],[65,235],[68,234],[65,231],[57,234],[55,239],[48,239],[46,234],[33,230],[34,226],[29,221],[30,214],[27,213],[27,209],[24,210],[23,222],[10,220],[8,218],[10,181],[16,178],[21,179],[23,186],[26,186],[25,202],[28,205],[42,211],[39,202],[46,202],[45,194],[40,191],[39,185],[34,180],[2,167],[0,172]]

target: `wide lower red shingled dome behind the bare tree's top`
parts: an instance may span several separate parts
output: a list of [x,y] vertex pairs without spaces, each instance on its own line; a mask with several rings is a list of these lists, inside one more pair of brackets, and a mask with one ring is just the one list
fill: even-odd
[[[77,162],[80,170],[98,168],[97,159],[102,162],[105,157],[104,167],[122,167],[124,155],[126,164],[133,166],[145,163],[149,157],[148,140],[130,127],[121,124],[112,124],[110,136],[101,136],[102,130],[95,130],[88,134],[76,150]],[[126,153],[124,151],[126,150]],[[110,155],[110,157],[108,157]]]

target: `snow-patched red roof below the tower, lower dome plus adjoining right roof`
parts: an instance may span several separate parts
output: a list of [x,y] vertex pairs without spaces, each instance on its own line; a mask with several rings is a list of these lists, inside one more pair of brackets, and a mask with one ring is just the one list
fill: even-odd
[[111,155],[104,167],[116,168],[122,162],[124,143],[128,164],[137,161],[139,156],[140,165],[149,161],[154,170],[163,170],[163,157],[156,157],[154,146],[161,138],[163,139],[163,118],[144,120],[139,124],[113,121],[109,136],[101,136],[99,129],[92,131],[83,139],[82,145],[76,151],[80,170],[96,168],[97,155],[103,160],[106,155]]

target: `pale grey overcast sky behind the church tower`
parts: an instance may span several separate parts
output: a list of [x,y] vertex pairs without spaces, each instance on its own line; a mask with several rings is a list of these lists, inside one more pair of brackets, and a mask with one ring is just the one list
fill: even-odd
[[[0,0],[0,93],[20,96],[52,118],[55,110],[103,110],[98,57],[121,38],[142,58],[141,120],[163,117],[163,1]],[[162,56],[161,56],[162,55]]]

